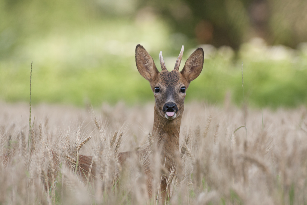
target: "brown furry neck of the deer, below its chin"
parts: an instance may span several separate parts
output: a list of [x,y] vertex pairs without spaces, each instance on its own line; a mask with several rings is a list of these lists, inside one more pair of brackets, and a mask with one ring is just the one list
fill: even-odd
[[161,150],[161,160],[169,171],[179,154],[179,132],[182,113],[173,120],[163,118],[158,111],[154,112],[153,136]]

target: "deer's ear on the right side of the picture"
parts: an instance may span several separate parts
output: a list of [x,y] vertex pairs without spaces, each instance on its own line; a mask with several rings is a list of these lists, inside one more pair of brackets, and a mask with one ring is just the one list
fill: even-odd
[[181,70],[181,74],[185,77],[185,79],[187,79],[188,82],[191,82],[199,76],[203,66],[204,50],[202,48],[198,48],[185,62],[185,66]]

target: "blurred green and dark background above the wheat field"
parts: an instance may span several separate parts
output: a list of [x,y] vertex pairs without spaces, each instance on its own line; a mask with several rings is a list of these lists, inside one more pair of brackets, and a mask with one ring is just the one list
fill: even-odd
[[160,69],[204,48],[186,101],[276,108],[307,104],[305,0],[0,0],[0,100],[99,106],[153,101],[135,66]]

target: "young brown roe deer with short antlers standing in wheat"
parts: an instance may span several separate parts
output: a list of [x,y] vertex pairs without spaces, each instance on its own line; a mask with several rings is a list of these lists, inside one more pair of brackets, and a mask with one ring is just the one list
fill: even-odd
[[[169,72],[160,52],[161,72],[158,71],[153,62],[153,58],[142,45],[137,45],[135,49],[136,66],[139,73],[150,82],[150,87],[155,97],[153,133],[161,154],[161,164],[167,171],[176,168],[176,157],[179,154],[179,132],[181,117],[184,110],[185,91],[190,82],[199,76],[204,64],[204,51],[198,48],[192,53],[185,63],[182,71],[179,71],[183,46],[177,58],[175,68]],[[131,152],[119,153],[119,162],[123,164]],[[138,151],[138,155],[146,155],[146,150]],[[79,164],[83,173],[88,173],[91,165],[91,156],[80,156]],[[93,165],[95,166],[95,165]],[[147,191],[149,198],[153,196],[152,173],[148,165],[144,168],[147,175]],[[91,170],[95,175],[93,167]],[[166,179],[161,181],[160,193],[162,201],[165,200],[167,188]]]

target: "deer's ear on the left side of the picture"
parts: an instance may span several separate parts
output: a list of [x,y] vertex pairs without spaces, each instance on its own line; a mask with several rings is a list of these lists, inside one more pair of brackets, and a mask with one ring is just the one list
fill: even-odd
[[135,62],[138,72],[147,81],[153,81],[156,78],[159,71],[153,62],[153,58],[140,44],[138,44],[135,48]]

